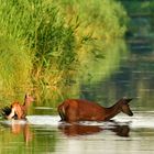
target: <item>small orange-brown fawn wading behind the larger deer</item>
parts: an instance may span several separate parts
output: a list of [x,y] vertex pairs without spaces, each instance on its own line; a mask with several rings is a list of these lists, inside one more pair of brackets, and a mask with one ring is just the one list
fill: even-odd
[[2,114],[7,119],[25,119],[28,108],[32,101],[34,101],[33,97],[26,94],[23,105],[20,105],[20,102],[15,101],[11,105],[11,107],[4,107],[2,109]]

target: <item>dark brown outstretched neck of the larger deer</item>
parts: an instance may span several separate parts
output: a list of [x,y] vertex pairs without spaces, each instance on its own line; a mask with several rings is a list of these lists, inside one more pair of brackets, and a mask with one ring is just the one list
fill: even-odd
[[110,120],[111,118],[113,118],[114,116],[117,116],[120,112],[121,112],[121,109],[120,109],[119,102],[117,102],[116,105],[113,105],[110,108],[106,108],[106,120]]

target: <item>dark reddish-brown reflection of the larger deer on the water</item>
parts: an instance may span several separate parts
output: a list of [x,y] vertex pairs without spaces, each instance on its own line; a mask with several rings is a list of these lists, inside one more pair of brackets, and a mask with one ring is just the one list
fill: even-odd
[[130,127],[129,124],[120,124],[116,121],[111,121],[112,127],[100,127],[100,125],[84,125],[79,123],[59,124],[58,129],[67,136],[95,134],[102,132],[103,130],[109,130],[114,132],[119,136],[129,136]]

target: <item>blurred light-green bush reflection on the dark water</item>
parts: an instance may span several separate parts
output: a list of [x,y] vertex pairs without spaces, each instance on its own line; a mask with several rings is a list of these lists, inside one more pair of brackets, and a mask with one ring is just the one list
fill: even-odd
[[[109,44],[103,44],[102,46],[103,57],[95,56],[94,53],[87,53],[82,56],[81,62],[81,78],[79,76],[80,82],[82,84],[95,84],[98,81],[103,81],[112,74],[114,74],[121,63],[121,57],[128,58],[129,51],[127,44],[123,40],[114,40]],[[77,76],[76,76],[77,77]]]

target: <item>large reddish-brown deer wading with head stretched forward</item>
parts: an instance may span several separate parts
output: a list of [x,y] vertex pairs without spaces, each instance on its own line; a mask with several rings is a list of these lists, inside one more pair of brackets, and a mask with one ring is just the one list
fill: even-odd
[[129,102],[132,99],[122,98],[110,108],[101,107],[98,103],[81,100],[67,99],[58,106],[58,113],[62,121],[108,121],[120,112],[133,116]]

